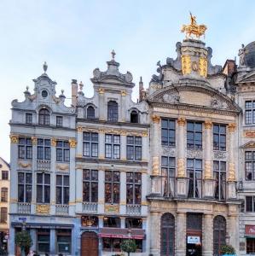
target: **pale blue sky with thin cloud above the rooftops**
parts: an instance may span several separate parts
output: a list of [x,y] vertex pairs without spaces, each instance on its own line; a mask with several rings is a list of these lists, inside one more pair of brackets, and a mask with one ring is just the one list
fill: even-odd
[[213,65],[255,40],[255,1],[0,0],[0,156],[9,161],[11,101],[23,101],[26,86],[33,90],[44,61],[57,95],[63,89],[70,98],[78,79],[93,96],[93,70],[106,70],[114,49],[120,72],[133,75],[136,101],[140,76],[147,88],[157,61],[176,58],[189,11],[207,26],[202,40],[212,47]]

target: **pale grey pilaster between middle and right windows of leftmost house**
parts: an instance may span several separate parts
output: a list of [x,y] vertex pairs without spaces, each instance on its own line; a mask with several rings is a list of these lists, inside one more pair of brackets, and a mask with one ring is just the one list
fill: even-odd
[[55,215],[55,160],[56,160],[56,139],[51,138],[50,157],[50,214]]

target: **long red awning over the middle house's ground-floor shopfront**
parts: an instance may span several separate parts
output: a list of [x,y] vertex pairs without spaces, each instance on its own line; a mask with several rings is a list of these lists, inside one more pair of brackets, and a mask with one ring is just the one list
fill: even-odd
[[99,232],[100,237],[126,238],[126,239],[144,239],[145,231],[140,229],[117,229],[102,228]]

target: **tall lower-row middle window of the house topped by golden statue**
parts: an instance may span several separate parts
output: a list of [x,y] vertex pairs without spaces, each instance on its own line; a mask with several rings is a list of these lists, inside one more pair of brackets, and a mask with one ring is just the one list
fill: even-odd
[[188,197],[202,196],[202,160],[187,159]]

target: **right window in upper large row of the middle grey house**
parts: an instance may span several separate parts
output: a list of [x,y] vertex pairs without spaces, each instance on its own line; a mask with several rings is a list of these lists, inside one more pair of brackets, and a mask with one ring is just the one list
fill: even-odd
[[126,137],[126,158],[128,160],[142,160],[142,137]]

